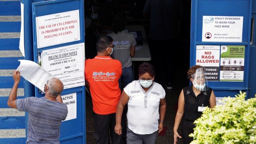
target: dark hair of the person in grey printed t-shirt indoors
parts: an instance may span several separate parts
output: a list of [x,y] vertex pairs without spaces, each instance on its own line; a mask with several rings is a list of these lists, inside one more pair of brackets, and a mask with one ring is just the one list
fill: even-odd
[[113,23],[113,31],[115,34],[125,29],[125,21],[126,21],[125,14],[123,14],[122,12],[115,15],[114,23]]

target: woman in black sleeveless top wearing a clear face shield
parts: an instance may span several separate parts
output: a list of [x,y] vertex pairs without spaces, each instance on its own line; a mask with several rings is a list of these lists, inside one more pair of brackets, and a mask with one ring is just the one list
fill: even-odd
[[[192,66],[187,72],[188,79],[193,85],[181,90],[173,127],[174,144],[177,143],[177,137],[183,138],[184,144],[189,144],[193,141],[193,138],[188,135],[194,132],[194,121],[201,117],[202,112],[207,106],[214,108],[216,105],[214,92],[208,87],[207,78],[204,73],[205,69],[200,65]],[[183,119],[182,137],[177,132],[181,119]]]

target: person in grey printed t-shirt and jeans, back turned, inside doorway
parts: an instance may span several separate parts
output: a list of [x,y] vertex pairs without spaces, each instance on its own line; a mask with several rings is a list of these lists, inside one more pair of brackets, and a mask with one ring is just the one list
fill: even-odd
[[136,40],[132,33],[125,30],[125,15],[118,13],[115,15],[113,23],[113,33],[108,34],[113,38],[113,44],[115,45],[115,51],[113,51],[113,59],[117,59],[122,63],[122,76],[119,79],[119,88],[121,87],[121,81],[124,87],[133,81],[132,62],[131,57],[135,55]]

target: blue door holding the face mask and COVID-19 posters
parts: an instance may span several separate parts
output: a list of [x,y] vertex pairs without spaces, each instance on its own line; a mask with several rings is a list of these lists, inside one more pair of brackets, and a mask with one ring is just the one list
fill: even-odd
[[[252,0],[195,0],[191,3],[190,66],[196,64],[196,45],[245,46],[243,82],[208,81],[216,97],[234,97],[239,90],[248,91],[248,73],[252,68],[249,66],[251,15]],[[202,42],[203,16],[242,16],[242,42]]]

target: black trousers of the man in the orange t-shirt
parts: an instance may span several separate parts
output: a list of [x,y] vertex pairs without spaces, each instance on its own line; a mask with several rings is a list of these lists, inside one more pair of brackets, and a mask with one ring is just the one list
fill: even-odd
[[[93,113],[93,115],[94,115],[94,127],[95,127],[94,137],[96,139],[96,143],[110,144],[110,138],[111,138],[112,144],[120,144],[121,138],[123,137],[123,134],[124,134],[123,130],[126,130],[125,123],[123,122],[123,120],[121,122],[122,135],[117,135],[114,129],[116,125],[115,113],[107,114],[107,115],[100,115],[100,114]],[[109,135],[109,132],[110,132],[110,135]]]

